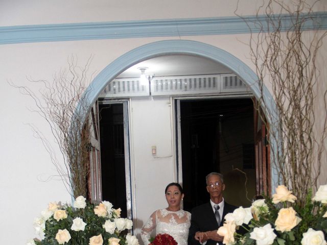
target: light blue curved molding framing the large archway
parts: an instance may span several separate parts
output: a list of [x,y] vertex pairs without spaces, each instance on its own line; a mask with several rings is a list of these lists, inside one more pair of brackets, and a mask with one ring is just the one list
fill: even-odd
[[[152,42],[136,47],[126,54],[120,56],[112,63],[107,65],[86,89],[89,108],[98,99],[105,86],[122,71],[141,61],[170,54],[201,56],[225,65],[232,70],[233,74],[240,77],[240,79],[247,84],[256,98],[261,97],[261,94],[263,95],[266,104],[266,107],[263,109],[265,114],[268,115],[268,120],[269,118],[277,118],[275,110],[276,107],[271,93],[265,86],[260,87],[258,76],[256,76],[256,74],[244,62],[221,48],[191,40],[164,40]],[[270,125],[273,126],[271,121]],[[271,130],[273,130],[273,128],[271,128]],[[271,142],[271,147],[274,149],[276,149],[275,145],[276,144],[274,142]],[[277,173],[274,167],[271,169],[271,174],[273,187],[277,184]]]

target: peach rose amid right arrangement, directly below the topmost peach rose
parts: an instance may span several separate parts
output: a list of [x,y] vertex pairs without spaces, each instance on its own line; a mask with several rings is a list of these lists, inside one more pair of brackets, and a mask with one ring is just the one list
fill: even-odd
[[296,216],[296,212],[292,207],[282,208],[279,210],[275,220],[276,230],[281,232],[290,231],[300,223],[300,221],[301,218]]

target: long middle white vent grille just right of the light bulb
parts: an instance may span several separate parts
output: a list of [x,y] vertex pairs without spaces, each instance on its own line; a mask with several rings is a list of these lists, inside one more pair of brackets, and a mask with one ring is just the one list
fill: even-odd
[[151,81],[152,95],[219,93],[220,75],[194,77],[162,77]]

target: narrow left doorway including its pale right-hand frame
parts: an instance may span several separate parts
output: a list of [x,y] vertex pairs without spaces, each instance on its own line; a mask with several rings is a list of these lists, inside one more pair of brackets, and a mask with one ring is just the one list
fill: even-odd
[[99,101],[102,198],[131,218],[127,101]]

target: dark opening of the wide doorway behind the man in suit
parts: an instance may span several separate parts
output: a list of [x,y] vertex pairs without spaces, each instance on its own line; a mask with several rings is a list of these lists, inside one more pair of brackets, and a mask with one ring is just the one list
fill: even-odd
[[205,176],[212,171],[224,175],[226,202],[249,206],[255,195],[252,100],[181,100],[180,117],[184,209],[209,201]]

